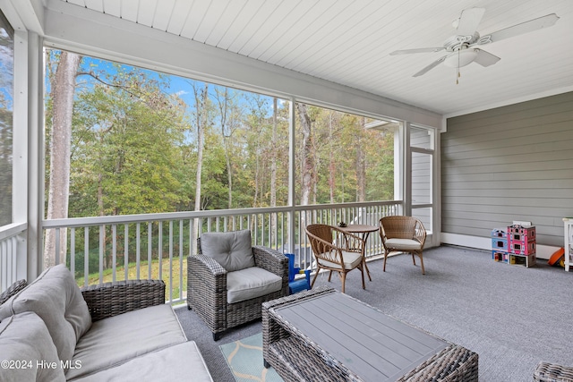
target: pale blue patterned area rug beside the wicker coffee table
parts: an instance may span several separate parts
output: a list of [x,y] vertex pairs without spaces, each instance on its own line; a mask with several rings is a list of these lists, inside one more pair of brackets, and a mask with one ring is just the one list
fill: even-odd
[[262,366],[262,333],[219,348],[237,382],[282,382],[275,369]]

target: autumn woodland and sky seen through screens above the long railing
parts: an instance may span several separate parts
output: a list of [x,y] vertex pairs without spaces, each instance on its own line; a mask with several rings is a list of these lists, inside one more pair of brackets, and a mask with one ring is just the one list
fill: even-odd
[[[47,57],[57,64],[59,55]],[[53,78],[47,75],[47,89]],[[195,97],[202,91],[206,97]],[[48,93],[48,132],[50,102]],[[282,99],[83,57],[69,217],[286,205],[288,107]],[[319,106],[301,104],[296,113],[297,203],[393,199],[391,131]]]

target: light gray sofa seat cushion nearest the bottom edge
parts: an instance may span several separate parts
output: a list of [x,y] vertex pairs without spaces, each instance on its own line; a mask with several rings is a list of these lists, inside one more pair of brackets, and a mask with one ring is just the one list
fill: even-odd
[[148,352],[121,365],[102,369],[74,382],[193,381],[212,382],[209,369],[193,341]]

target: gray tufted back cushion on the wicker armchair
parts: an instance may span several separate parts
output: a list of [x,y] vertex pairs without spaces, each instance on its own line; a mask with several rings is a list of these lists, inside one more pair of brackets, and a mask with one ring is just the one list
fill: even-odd
[[215,259],[227,272],[254,267],[251,231],[202,233],[201,254]]

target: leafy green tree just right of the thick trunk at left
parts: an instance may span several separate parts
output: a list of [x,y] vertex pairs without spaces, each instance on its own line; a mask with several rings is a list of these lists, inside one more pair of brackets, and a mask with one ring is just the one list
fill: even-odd
[[115,70],[112,76],[91,73],[98,82],[76,101],[74,214],[172,210],[180,200],[173,169],[182,163],[183,104],[162,91],[168,86],[162,77],[122,66]]

